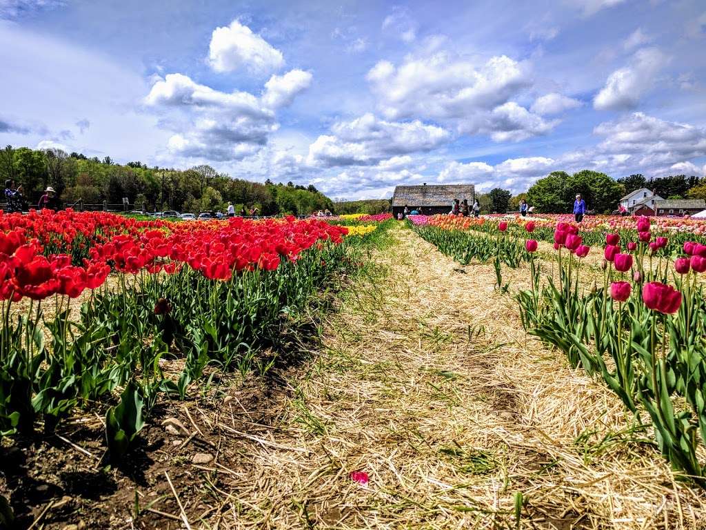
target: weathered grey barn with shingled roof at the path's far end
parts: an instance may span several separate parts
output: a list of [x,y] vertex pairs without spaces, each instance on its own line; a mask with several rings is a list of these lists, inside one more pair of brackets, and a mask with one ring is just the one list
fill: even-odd
[[473,184],[427,185],[425,182],[421,186],[397,186],[393,194],[393,217],[396,219],[397,213],[405,211],[405,206],[409,211],[417,210],[425,216],[449,213],[454,199],[466,199],[470,207],[473,206],[475,198]]

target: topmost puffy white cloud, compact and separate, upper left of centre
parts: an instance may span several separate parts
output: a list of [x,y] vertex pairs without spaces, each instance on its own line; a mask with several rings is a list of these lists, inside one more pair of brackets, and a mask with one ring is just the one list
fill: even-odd
[[256,35],[246,25],[233,20],[216,28],[208,47],[208,64],[217,72],[248,69],[253,73],[269,73],[285,64],[282,52]]

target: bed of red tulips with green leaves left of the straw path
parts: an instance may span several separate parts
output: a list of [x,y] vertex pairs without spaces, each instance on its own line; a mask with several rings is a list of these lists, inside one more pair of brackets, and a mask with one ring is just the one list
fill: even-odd
[[[104,418],[104,463],[121,465],[155,406],[205,372],[264,377],[376,228],[0,213],[0,442],[53,435],[83,410]],[[164,374],[167,358],[183,369]]]

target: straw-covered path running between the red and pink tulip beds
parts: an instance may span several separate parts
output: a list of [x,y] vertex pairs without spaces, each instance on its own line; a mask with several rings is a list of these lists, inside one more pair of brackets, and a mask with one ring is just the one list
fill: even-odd
[[222,488],[219,528],[705,527],[706,496],[604,385],[525,336],[492,266],[391,237]]

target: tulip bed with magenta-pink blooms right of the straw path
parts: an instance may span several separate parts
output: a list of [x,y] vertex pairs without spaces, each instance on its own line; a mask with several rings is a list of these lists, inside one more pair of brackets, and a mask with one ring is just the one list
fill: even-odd
[[[561,219],[561,218],[560,218]],[[522,324],[601,378],[649,422],[675,470],[706,486],[706,223],[650,218],[563,220],[411,216],[414,230],[463,264],[529,265],[531,288],[516,293]],[[551,242],[551,265],[535,258]],[[599,281],[582,281],[590,254]],[[549,273],[551,267],[551,273]],[[542,271],[546,278],[542,278]],[[587,270],[589,269],[589,270]],[[592,276],[594,278],[594,276]]]

